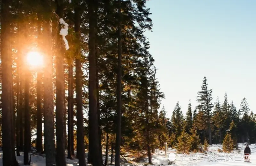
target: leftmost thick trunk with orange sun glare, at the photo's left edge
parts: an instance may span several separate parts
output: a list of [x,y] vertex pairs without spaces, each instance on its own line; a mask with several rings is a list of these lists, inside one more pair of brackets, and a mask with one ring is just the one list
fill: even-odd
[[[12,161],[12,53],[10,43],[10,2],[1,1],[1,72],[2,72],[2,144],[3,144],[3,166],[11,166]],[[8,17],[9,16],[9,17]]]

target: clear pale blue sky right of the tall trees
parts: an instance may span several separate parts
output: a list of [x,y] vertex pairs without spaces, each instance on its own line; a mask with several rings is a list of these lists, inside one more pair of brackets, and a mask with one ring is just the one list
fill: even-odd
[[171,117],[196,106],[204,76],[219,96],[256,113],[256,0],[149,0],[153,32],[146,32]]

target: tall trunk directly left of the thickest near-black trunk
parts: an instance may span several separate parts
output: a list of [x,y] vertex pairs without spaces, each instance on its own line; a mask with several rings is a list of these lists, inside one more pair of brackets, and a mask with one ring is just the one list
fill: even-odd
[[[79,4],[75,7],[75,32],[76,32],[76,149],[79,165],[85,166],[84,154],[84,117],[83,117],[83,101],[82,101],[82,65],[81,65],[81,52],[80,52],[80,8]],[[96,85],[96,82],[95,82]],[[97,121],[96,121],[97,122]],[[98,132],[98,131],[94,131]],[[96,141],[96,140],[95,140]],[[94,166],[94,165],[93,165]]]

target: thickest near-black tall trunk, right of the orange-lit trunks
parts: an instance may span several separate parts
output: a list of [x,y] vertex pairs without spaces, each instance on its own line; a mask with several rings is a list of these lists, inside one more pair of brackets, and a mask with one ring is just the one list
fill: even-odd
[[97,116],[97,78],[96,78],[96,24],[97,1],[88,1],[89,16],[89,157],[88,162],[100,166],[100,146]]

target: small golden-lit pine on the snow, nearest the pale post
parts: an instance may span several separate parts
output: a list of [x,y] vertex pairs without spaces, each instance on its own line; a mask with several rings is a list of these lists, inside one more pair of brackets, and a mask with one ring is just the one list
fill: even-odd
[[185,127],[183,127],[183,130],[178,137],[178,142],[175,146],[178,153],[189,153],[189,150],[191,148],[191,139],[189,134],[186,132]]

